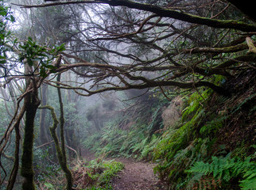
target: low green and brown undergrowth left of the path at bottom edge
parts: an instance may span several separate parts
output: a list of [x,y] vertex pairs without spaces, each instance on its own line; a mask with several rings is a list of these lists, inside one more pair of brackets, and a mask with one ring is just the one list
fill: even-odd
[[[76,161],[72,165],[72,189],[80,190],[111,190],[112,178],[124,168],[118,161],[105,161],[99,158],[92,161]],[[51,175],[45,173],[44,177],[38,180],[37,187],[44,190],[62,190],[64,184],[64,173],[58,169],[52,170]]]

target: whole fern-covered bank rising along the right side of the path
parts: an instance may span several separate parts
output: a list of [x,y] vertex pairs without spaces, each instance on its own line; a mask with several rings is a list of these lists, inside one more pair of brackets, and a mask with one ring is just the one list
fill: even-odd
[[[149,123],[136,120],[129,130],[110,125],[85,144],[106,156],[157,162],[155,173],[173,190],[255,189],[256,88],[253,74],[245,78],[226,84],[230,97],[211,89],[184,94],[180,119],[170,126],[155,107]],[[235,91],[236,82],[246,85]]]

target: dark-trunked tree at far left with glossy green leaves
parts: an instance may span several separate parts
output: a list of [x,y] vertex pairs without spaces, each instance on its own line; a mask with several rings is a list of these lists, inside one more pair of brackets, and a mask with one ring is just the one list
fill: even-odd
[[[2,59],[2,78],[5,78],[4,85],[9,84],[15,78],[22,78],[25,80],[24,91],[21,90],[21,95],[17,99],[17,106],[14,112],[14,116],[10,121],[9,126],[6,129],[5,134],[1,139],[0,155],[6,148],[6,144],[10,139],[12,131],[15,129],[16,141],[15,141],[15,153],[14,153],[14,167],[10,173],[9,184],[7,189],[14,188],[14,182],[17,176],[17,170],[19,166],[19,146],[20,146],[20,123],[22,117],[25,115],[25,129],[23,150],[21,156],[21,176],[24,177],[22,189],[35,189],[34,173],[33,173],[33,137],[34,137],[34,119],[37,113],[37,108],[41,101],[38,98],[38,88],[41,86],[42,81],[47,76],[49,70],[56,67],[50,65],[52,59],[56,58],[57,52],[63,50],[62,47],[56,49],[47,50],[45,47],[37,45],[33,42],[32,38],[25,41],[24,44],[16,44],[10,41],[11,33],[7,30],[8,21],[14,21],[13,16],[10,16],[9,8],[2,5],[1,12],[3,17],[2,22],[2,41],[1,41],[1,59]],[[7,31],[7,32],[6,32]],[[10,55],[7,55],[7,51]],[[13,64],[13,59],[15,63]],[[56,59],[57,61],[57,59]],[[24,73],[19,70],[18,67],[24,68]],[[15,69],[14,69],[15,68]],[[23,105],[20,108],[19,105],[23,101]],[[6,174],[2,163],[0,162],[2,170]],[[4,177],[5,178],[5,177]],[[2,184],[3,180],[1,181]]]

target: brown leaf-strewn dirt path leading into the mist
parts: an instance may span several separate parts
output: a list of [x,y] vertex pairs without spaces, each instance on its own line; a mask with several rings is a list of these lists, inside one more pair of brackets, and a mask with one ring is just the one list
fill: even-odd
[[[83,158],[90,160],[95,156],[83,152]],[[112,158],[111,158],[112,159]],[[114,158],[125,165],[122,172],[112,180],[114,190],[166,190],[168,189],[153,173],[154,165],[145,161],[135,161],[131,158]]]

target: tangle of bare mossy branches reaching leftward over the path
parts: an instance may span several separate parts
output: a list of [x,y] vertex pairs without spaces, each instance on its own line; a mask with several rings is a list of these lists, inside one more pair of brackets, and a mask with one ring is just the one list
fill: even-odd
[[[83,4],[89,5],[85,8]],[[65,60],[56,71],[80,67],[83,69],[76,69],[76,74],[94,80],[93,90],[62,86],[80,95],[157,86],[206,86],[228,96],[231,92],[215,78],[230,78],[234,71],[250,69],[255,60],[254,53],[247,53],[246,37],[252,37],[256,27],[247,18],[235,21],[244,14],[227,2],[161,1],[150,5],[124,0],[69,1],[22,7],[59,5],[75,5],[87,18],[81,21],[87,28],[76,25],[77,34],[71,38],[75,43],[80,41],[80,51],[107,52],[99,63],[90,63],[77,50],[63,54],[73,60]]]

